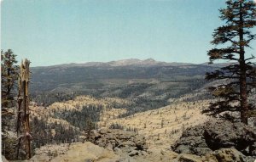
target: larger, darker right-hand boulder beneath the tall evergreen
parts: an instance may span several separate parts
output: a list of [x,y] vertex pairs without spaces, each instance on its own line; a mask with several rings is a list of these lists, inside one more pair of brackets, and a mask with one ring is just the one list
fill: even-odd
[[256,155],[253,152],[256,131],[243,123],[231,123],[223,120],[208,123],[203,136],[208,148],[212,150],[234,147],[243,154]]

